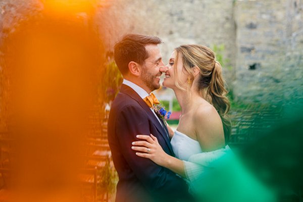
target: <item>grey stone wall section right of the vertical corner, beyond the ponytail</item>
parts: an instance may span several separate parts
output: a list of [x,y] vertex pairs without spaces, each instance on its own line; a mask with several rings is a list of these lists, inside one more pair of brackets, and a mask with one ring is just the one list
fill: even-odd
[[237,1],[234,95],[245,102],[302,97],[303,3]]

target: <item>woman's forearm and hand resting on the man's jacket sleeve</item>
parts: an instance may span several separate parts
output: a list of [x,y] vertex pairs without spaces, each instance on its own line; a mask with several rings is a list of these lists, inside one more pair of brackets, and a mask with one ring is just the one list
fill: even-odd
[[145,140],[135,141],[132,143],[132,149],[140,151],[136,152],[137,156],[148,158],[156,164],[168,168],[174,173],[177,173],[181,177],[186,177],[183,161],[166,154],[155,136],[152,134],[150,134],[150,136],[137,135],[137,138]]

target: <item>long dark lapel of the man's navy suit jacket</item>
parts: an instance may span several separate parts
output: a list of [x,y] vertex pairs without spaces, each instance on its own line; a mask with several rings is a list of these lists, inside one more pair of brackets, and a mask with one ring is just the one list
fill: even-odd
[[122,84],[120,92],[125,93],[125,94],[129,95],[130,97],[132,97],[133,99],[135,99],[138,102],[138,104],[146,111],[149,119],[153,120],[153,123],[156,126],[157,130],[163,136],[167,146],[171,150],[171,153],[174,154],[172,145],[171,145],[170,140],[169,140],[168,135],[167,135],[168,134],[167,127],[164,125],[162,119],[159,118],[160,121],[163,123],[164,127],[162,127],[161,123],[159,123],[157,117],[154,115],[153,112],[151,112],[150,108],[146,105],[144,100],[131,87],[129,87],[125,84]]

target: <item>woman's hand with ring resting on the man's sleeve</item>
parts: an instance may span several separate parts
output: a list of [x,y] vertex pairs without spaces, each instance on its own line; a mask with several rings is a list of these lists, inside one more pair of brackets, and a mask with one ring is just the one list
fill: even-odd
[[160,166],[165,165],[165,160],[169,155],[162,149],[157,137],[152,134],[136,137],[143,140],[132,142],[131,148],[136,151],[137,156],[150,159]]

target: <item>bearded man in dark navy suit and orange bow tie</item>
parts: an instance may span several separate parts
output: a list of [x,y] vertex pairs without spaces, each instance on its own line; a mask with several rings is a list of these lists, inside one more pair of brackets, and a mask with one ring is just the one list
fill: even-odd
[[117,202],[191,198],[183,179],[149,159],[139,158],[131,149],[132,142],[139,140],[136,135],[153,134],[164,151],[174,156],[167,127],[149,108],[153,100],[157,104],[157,99],[152,95],[146,98],[160,87],[160,76],[165,71],[160,43],[162,40],[156,36],[127,34],[115,45],[115,61],[124,77],[108,125],[109,144],[119,175]]

